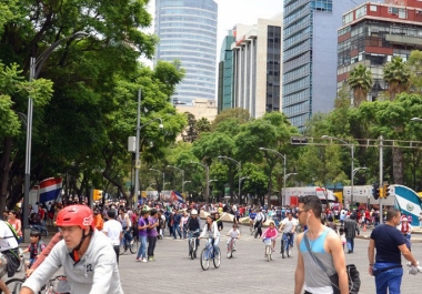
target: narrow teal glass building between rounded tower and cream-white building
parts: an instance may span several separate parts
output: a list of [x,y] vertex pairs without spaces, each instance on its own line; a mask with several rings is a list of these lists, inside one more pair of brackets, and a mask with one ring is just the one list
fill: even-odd
[[218,110],[233,108],[233,51],[235,30],[230,30],[221,45],[219,62]]

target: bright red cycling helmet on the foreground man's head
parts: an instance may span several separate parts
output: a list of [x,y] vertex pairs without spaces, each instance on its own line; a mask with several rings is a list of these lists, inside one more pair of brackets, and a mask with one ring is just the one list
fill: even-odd
[[93,222],[93,212],[87,205],[70,205],[59,211],[57,215],[57,226],[78,225],[81,229],[86,226],[96,227]]

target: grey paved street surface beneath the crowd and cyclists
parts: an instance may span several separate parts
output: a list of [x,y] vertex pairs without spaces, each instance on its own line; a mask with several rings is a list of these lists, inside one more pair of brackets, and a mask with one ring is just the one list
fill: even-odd
[[[229,224],[224,223],[223,233],[229,231]],[[274,261],[264,260],[264,245],[261,241],[249,235],[249,229],[244,227],[245,235],[238,242],[238,251],[234,257],[221,258],[220,268],[210,264],[208,271],[202,271],[199,260],[190,260],[188,256],[188,242],[174,241],[167,232],[164,240],[159,240],[155,250],[155,261],[150,263],[134,262],[135,255],[125,253],[120,257],[120,273],[124,293],[293,293],[294,268],[297,263],[295,249],[293,257],[282,258],[280,251],[274,253]],[[369,235],[370,231],[362,232]],[[227,237],[220,241],[220,249],[224,249]],[[201,241],[199,251],[204,242]],[[362,280],[360,293],[374,293],[374,281],[368,274],[366,247],[368,240],[355,240],[355,253],[346,254],[346,263],[356,264]],[[278,241],[278,249],[280,242]],[[422,244],[415,243],[412,249],[418,260],[422,261]],[[405,264],[405,262],[403,262]],[[404,265],[405,266],[405,265]],[[421,293],[422,274],[412,276],[404,274],[402,293]]]

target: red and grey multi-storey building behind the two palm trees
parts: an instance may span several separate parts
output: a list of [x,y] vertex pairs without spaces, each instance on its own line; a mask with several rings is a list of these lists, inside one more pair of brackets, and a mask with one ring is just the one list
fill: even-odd
[[388,89],[384,64],[393,57],[406,61],[412,50],[422,50],[422,2],[391,0],[358,6],[343,14],[338,40],[338,89],[358,64],[363,64],[372,72],[368,100],[374,101]]

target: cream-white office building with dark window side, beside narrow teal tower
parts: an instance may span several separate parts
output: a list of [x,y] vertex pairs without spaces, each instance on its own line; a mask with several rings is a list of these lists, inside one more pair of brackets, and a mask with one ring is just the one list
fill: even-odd
[[233,108],[251,118],[281,110],[282,14],[259,19],[257,26],[237,24],[233,50]]

